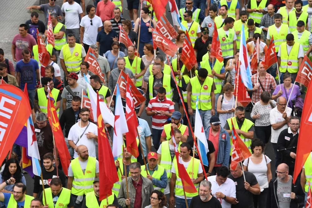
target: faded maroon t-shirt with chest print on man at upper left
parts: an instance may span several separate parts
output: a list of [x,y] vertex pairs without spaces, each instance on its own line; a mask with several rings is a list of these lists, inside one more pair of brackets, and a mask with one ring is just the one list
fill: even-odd
[[26,37],[22,37],[20,34],[14,36],[12,44],[16,46],[15,48],[15,59],[17,61],[22,60],[22,51],[28,49],[30,54],[32,54],[32,46],[37,45],[35,38],[27,33]]

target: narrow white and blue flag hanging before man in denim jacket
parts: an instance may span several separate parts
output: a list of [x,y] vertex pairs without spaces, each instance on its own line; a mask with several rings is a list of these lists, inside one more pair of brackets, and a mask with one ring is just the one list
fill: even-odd
[[207,138],[202,125],[202,119],[198,110],[198,95],[196,99],[196,110],[195,110],[195,128],[194,134],[197,137],[198,152],[202,155],[202,164],[208,166],[207,153],[209,152]]

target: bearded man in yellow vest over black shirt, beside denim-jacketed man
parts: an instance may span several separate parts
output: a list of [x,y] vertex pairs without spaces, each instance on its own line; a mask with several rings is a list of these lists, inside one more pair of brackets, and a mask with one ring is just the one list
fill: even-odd
[[[235,117],[227,119],[227,123],[224,126],[224,129],[227,130],[227,133],[229,133],[230,136],[232,135],[231,120],[233,120],[236,133],[241,137],[245,145],[248,147],[249,151],[251,151],[250,149],[251,139],[253,139],[254,132],[255,132],[254,123],[249,119],[245,119],[244,108],[241,106],[237,106],[235,109]],[[232,140],[231,140],[231,147],[232,147]],[[232,155],[232,148],[231,148],[230,155]]]

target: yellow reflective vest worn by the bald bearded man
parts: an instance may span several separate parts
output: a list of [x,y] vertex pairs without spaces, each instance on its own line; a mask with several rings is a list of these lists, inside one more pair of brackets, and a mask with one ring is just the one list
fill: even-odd
[[71,168],[74,171],[73,187],[71,193],[77,196],[82,196],[90,191],[93,191],[93,181],[95,179],[95,157],[88,158],[85,174],[83,174],[78,157],[71,161]]

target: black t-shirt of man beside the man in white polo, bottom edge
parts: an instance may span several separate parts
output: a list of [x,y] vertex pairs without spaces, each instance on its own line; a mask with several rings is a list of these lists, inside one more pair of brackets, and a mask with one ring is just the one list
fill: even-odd
[[[254,186],[258,183],[256,177],[251,172],[244,172],[246,181],[250,186]],[[253,194],[250,191],[245,189],[244,176],[241,175],[239,178],[234,178],[231,174],[228,178],[232,179],[236,185],[236,199],[239,202],[238,204],[232,204],[232,208],[253,208]]]

